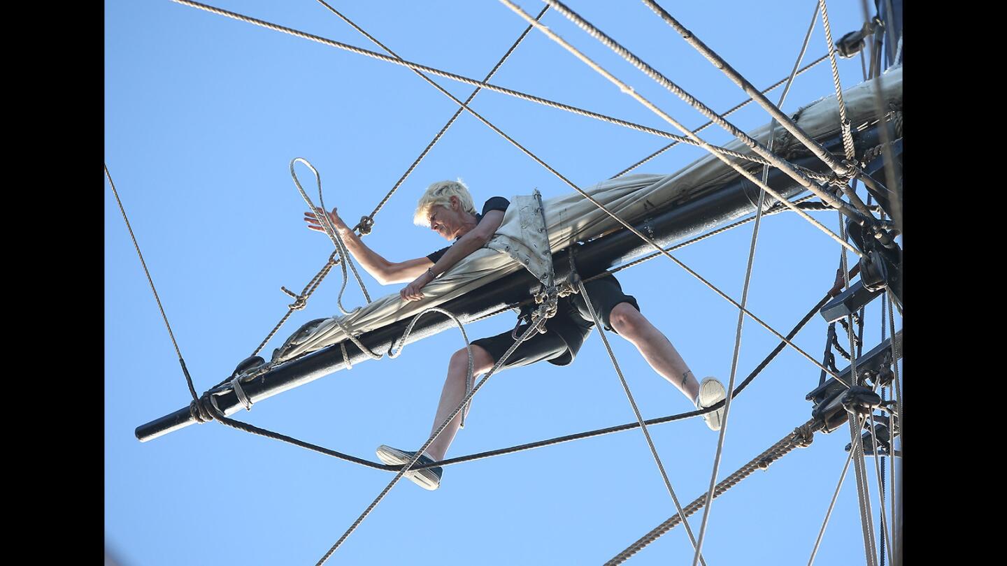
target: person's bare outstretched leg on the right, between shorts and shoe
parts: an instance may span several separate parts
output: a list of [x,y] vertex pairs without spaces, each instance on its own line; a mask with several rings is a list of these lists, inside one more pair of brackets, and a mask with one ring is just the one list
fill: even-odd
[[661,377],[679,388],[690,402],[699,395],[699,382],[672,342],[632,304],[621,302],[608,315],[612,328],[639,350]]

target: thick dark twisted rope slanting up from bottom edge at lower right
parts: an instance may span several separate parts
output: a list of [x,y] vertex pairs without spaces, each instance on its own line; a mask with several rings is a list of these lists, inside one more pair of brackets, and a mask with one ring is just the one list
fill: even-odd
[[[756,469],[765,469],[772,462],[778,460],[779,458],[788,454],[792,450],[798,447],[805,447],[812,443],[815,432],[821,429],[822,423],[816,423],[815,420],[810,420],[807,423],[801,425],[800,427],[794,429],[794,432],[787,434],[779,441],[777,441],[772,446],[766,448],[762,453],[752,458],[748,463],[744,464],[737,471],[728,475],[723,481],[716,485],[713,491],[713,497],[711,499],[716,499],[722,496],[731,487],[737,485],[742,479],[751,475]],[[704,493],[694,500],[691,504],[685,508],[685,517],[693,515],[697,511],[703,508],[704,502],[707,500],[707,494]],[[629,545],[625,550],[615,555],[608,562],[605,562],[605,566],[621,564],[625,562],[629,557],[636,554],[649,544],[657,541],[662,535],[671,531],[676,525],[682,522],[682,515],[675,515],[669,518],[667,521],[661,525],[654,528],[650,533],[643,535],[639,540]]]

